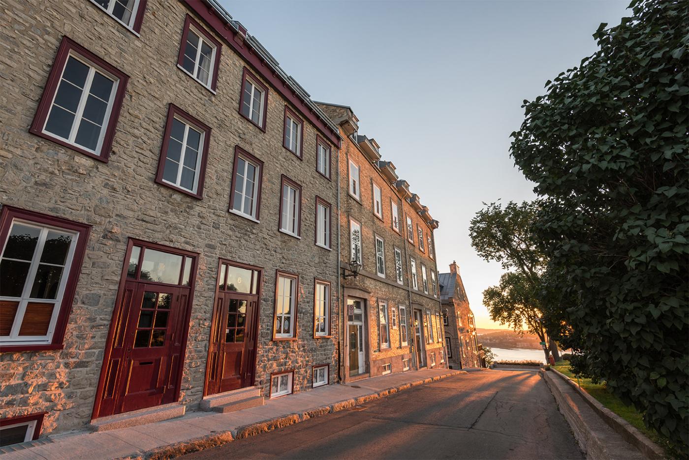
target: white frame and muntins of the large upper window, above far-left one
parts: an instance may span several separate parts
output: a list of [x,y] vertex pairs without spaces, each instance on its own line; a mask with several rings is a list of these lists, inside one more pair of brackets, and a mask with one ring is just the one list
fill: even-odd
[[[88,70],[88,75],[86,76],[86,81],[84,82],[84,86],[81,90],[81,96],[79,96],[79,104],[76,105],[76,112],[72,112],[71,110],[66,109],[65,107],[60,107],[61,109],[67,111],[67,112],[72,112],[74,113],[74,120],[72,121],[72,129],[70,129],[70,135],[68,137],[63,137],[60,136],[59,134],[54,134],[50,131],[45,130],[45,126],[48,125],[48,120],[50,120],[50,114],[52,113],[53,107],[55,107],[55,98],[57,97],[57,93],[60,90],[60,86],[63,83],[63,75],[65,74],[65,68],[67,67],[67,63],[70,61],[70,57],[76,59],[76,61],[81,62],[83,65],[86,65],[89,67]],[[96,143],[96,148],[95,149],[90,149],[89,147],[85,147],[81,144],[76,143],[76,134],[79,133],[79,127],[81,127],[81,123],[86,119],[83,118],[83,112],[86,107],[86,101],[88,101],[88,96],[91,91],[91,85],[93,83],[93,77],[96,72],[99,72],[99,74],[102,74],[103,76],[107,77],[107,79],[112,80],[112,90],[110,90],[110,98],[107,101],[107,108],[105,109],[105,115],[103,116],[103,124],[101,125],[101,133],[99,134],[98,138],[98,143]],[[72,85],[74,86],[71,82],[69,81],[64,81],[65,85]],[[81,56],[81,54],[77,54],[74,52],[74,50],[70,50],[67,58],[65,59],[65,62],[62,65],[62,70],[60,71],[60,79],[58,80],[58,83],[55,87],[54,94],[52,95],[52,101],[50,101],[50,107],[48,108],[48,114],[45,115],[45,121],[43,121],[43,127],[41,127],[41,133],[45,134],[46,136],[50,136],[52,138],[56,138],[59,140],[63,140],[66,143],[70,145],[74,145],[75,147],[79,147],[80,149],[84,149],[85,151],[88,151],[96,156],[101,156],[99,152],[103,148],[103,140],[105,139],[105,132],[107,132],[107,127],[110,124],[110,116],[112,116],[112,106],[114,105],[115,101],[115,96],[117,94],[117,88],[120,85],[120,79],[111,74],[110,72],[107,72],[107,70],[103,69],[103,67],[96,65],[95,63],[92,63],[89,59],[86,59],[84,56]],[[95,96],[94,96],[95,97]],[[100,98],[99,98],[100,99]],[[103,101],[103,99],[100,99]],[[87,121],[88,123],[88,121]]]

